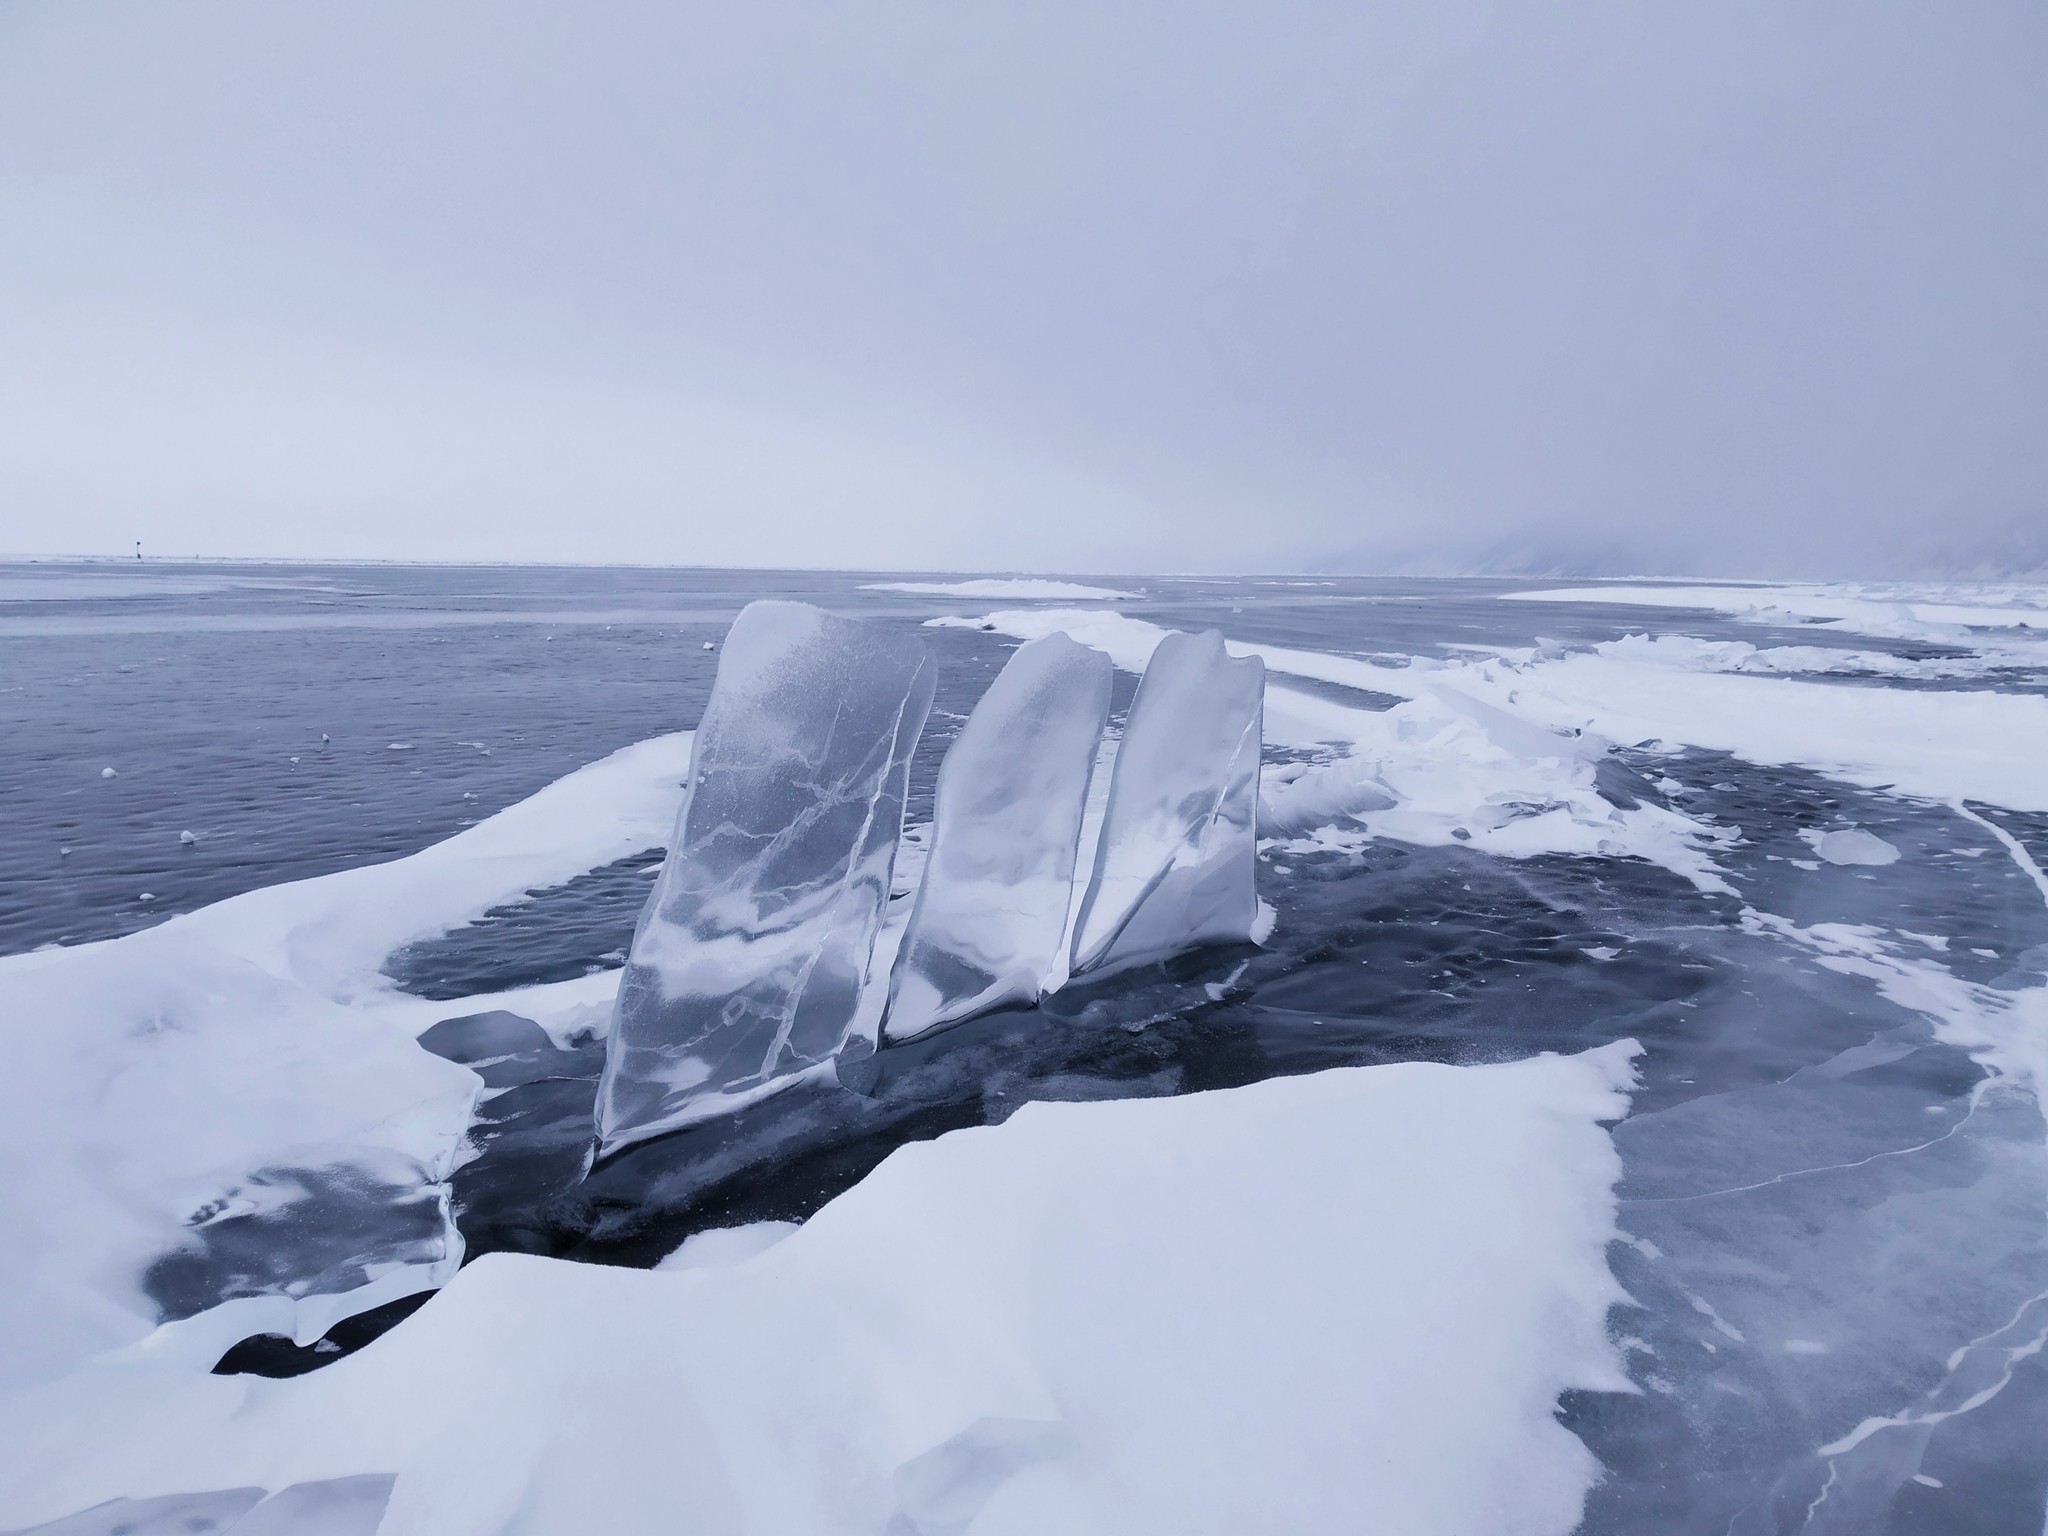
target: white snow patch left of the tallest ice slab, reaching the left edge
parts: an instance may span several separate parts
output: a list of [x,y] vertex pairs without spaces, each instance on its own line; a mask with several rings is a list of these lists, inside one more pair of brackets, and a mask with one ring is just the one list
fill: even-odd
[[[311,1343],[360,1305],[446,1280],[453,1223],[438,1257],[346,1300],[252,1298],[156,1329],[141,1288],[203,1212],[276,1198],[252,1180],[262,1169],[344,1163],[432,1192],[477,1077],[412,1036],[463,1006],[403,997],[379,967],[524,891],[662,846],[688,752],[688,733],[641,741],[410,858],[0,958],[0,1384],[121,1348],[211,1364],[246,1333]],[[481,1006],[567,1032],[602,1016],[614,985],[598,975]]]

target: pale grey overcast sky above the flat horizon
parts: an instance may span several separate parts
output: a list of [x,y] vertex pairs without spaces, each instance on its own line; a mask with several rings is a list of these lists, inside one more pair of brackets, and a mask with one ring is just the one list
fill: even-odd
[[0,0],[0,549],[2044,530],[2038,0]]

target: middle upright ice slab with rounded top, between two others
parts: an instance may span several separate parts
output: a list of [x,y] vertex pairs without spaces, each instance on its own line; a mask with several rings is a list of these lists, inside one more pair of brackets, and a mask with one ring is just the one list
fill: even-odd
[[932,852],[897,950],[893,1040],[1010,1001],[1059,958],[1110,657],[1067,635],[1018,647],[946,752]]

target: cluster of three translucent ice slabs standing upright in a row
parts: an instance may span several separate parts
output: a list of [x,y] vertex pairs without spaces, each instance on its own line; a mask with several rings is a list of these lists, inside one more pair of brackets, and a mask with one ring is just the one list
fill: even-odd
[[809,604],[733,623],[618,987],[600,1155],[844,1069],[877,1034],[1251,936],[1264,666],[1214,631],[1159,643],[1087,852],[1110,657],[1049,635],[946,754],[887,1006],[864,1024],[932,684],[924,643]]

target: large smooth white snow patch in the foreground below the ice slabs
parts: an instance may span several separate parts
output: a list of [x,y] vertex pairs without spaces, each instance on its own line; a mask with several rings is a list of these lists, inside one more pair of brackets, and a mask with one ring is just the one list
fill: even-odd
[[381,1536],[1569,1532],[1634,1042],[1026,1104],[723,1268],[487,1255],[295,1380],[0,1397],[0,1526],[395,1473]]

